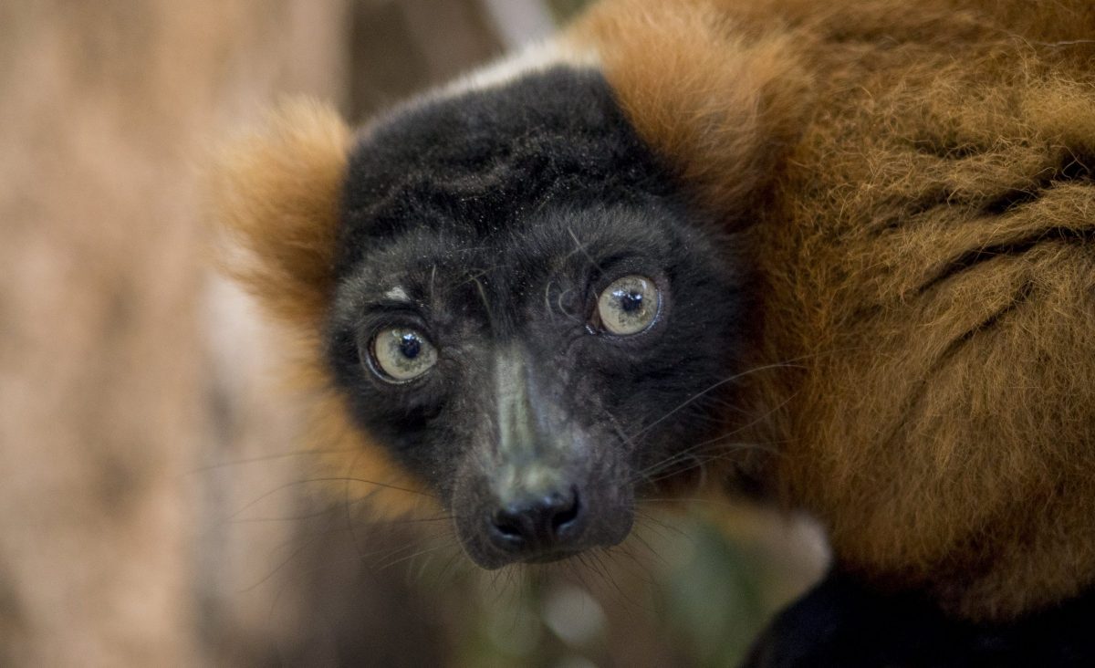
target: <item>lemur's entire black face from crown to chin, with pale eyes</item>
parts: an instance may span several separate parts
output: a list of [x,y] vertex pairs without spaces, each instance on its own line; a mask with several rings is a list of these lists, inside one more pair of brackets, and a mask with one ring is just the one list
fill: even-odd
[[748,318],[710,228],[593,71],[419,102],[355,148],[328,361],[480,565],[615,544],[695,461]]

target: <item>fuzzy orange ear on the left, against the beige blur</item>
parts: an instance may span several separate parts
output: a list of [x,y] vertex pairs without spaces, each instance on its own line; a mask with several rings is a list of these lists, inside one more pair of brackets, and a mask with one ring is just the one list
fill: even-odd
[[333,108],[295,100],[222,147],[209,174],[224,272],[293,329],[318,332],[330,306],[351,136]]

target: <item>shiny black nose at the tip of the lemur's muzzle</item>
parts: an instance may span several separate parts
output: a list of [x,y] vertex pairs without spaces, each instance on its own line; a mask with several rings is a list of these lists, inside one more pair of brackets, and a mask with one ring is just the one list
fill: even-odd
[[577,490],[511,503],[489,520],[491,541],[499,549],[525,558],[551,557],[566,552],[567,543],[581,534],[581,499]]

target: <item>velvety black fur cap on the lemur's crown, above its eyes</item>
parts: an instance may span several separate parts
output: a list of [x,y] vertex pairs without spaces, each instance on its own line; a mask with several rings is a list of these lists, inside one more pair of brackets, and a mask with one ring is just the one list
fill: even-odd
[[350,158],[336,273],[412,222],[487,237],[553,205],[642,206],[671,192],[603,77],[560,67],[377,124]]

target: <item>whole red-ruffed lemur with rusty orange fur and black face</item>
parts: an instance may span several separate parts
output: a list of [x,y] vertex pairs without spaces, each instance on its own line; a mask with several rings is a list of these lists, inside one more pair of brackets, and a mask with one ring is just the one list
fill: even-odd
[[756,665],[1095,665],[1093,169],[1090,0],[606,0],[216,183],[331,465],[482,566],[699,462],[832,544]]

